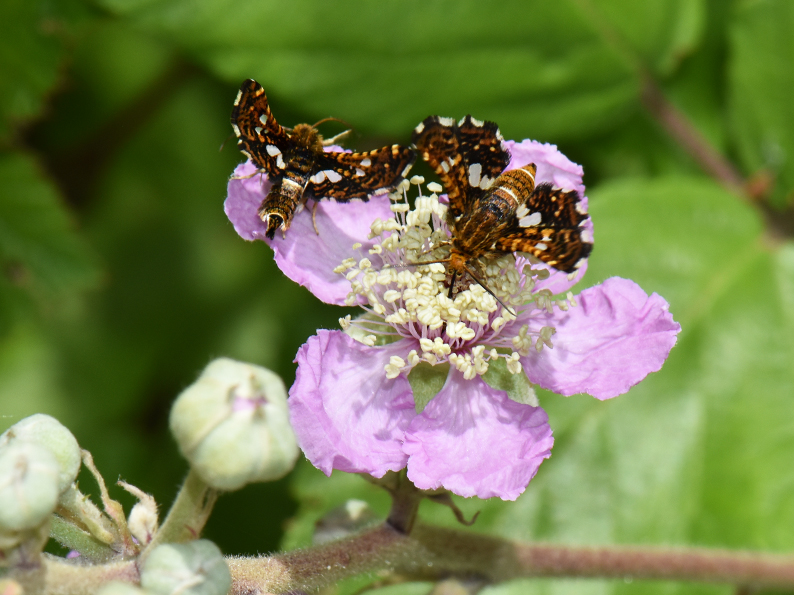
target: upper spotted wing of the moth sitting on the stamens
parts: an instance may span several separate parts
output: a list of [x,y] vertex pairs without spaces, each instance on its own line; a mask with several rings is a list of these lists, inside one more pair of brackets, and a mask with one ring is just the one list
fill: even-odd
[[412,140],[447,190],[450,221],[471,210],[510,163],[499,127],[471,116],[425,118]]

